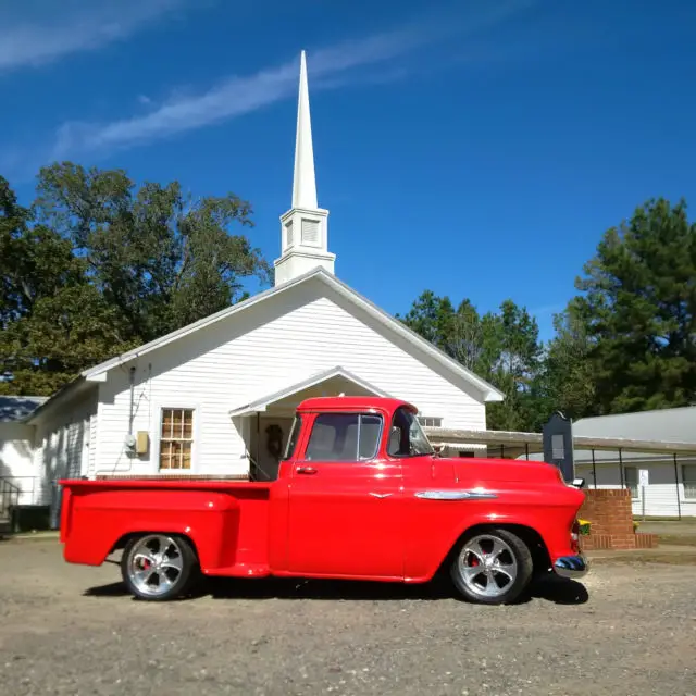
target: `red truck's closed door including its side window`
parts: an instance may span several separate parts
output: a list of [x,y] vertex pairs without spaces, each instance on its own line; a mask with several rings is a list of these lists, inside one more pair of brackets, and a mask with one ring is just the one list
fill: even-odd
[[293,464],[289,570],[403,577],[401,465],[377,457],[378,413],[321,413]]

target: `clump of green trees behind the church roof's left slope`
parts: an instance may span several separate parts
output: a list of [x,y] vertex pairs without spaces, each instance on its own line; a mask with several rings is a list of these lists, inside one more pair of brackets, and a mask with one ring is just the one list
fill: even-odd
[[0,393],[53,393],[85,368],[246,297],[270,268],[233,225],[234,195],[194,200],[176,182],[64,162],[30,209],[0,179]]

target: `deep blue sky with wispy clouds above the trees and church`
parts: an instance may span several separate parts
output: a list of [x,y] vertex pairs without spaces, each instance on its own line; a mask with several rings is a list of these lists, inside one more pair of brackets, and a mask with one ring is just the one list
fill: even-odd
[[0,173],[25,202],[55,158],[234,191],[272,260],[304,49],[337,275],[393,313],[510,297],[548,338],[606,228],[696,198],[694,26],[678,0],[5,0]]

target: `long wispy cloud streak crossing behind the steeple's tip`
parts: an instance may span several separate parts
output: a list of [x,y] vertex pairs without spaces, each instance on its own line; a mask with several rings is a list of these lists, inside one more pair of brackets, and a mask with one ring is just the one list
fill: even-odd
[[[125,0],[122,0],[125,1]],[[177,0],[140,0],[151,3],[151,11]],[[130,0],[128,0],[130,2]],[[431,15],[426,21],[402,25],[397,29],[351,39],[330,48],[308,47],[310,90],[344,87],[351,84],[381,84],[402,79],[408,74],[407,57],[417,49],[442,46],[456,39],[461,46],[511,15],[534,4],[535,0],[507,0],[494,8],[483,2],[471,4],[468,16]],[[420,61],[415,70],[422,69]],[[152,142],[173,135],[213,125],[249,114],[296,95],[298,58],[269,66],[250,75],[232,75],[204,90],[181,91],[163,102],[140,97],[139,113],[111,122],[72,121],[62,124],[48,151],[38,159],[46,161],[91,157]],[[147,109],[142,113],[142,107]],[[34,159],[34,158],[32,158]]]

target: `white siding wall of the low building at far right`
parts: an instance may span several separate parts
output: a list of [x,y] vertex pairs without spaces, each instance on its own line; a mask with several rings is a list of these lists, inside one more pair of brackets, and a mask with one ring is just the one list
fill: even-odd
[[[648,517],[678,517],[680,508],[682,517],[696,515],[696,500],[684,497],[681,464],[687,460],[678,460],[679,486],[674,483],[674,462],[624,462],[624,468],[647,469],[650,485],[645,488],[645,514]],[[688,460],[693,461],[693,460]],[[619,463],[597,464],[597,488],[620,488],[621,474]],[[592,464],[576,464],[575,473],[585,478],[587,488],[594,488],[595,482]],[[637,476],[637,473],[636,473]],[[679,502],[678,502],[679,490]],[[637,497],[632,500],[633,514],[643,514],[643,492],[638,487]]]

